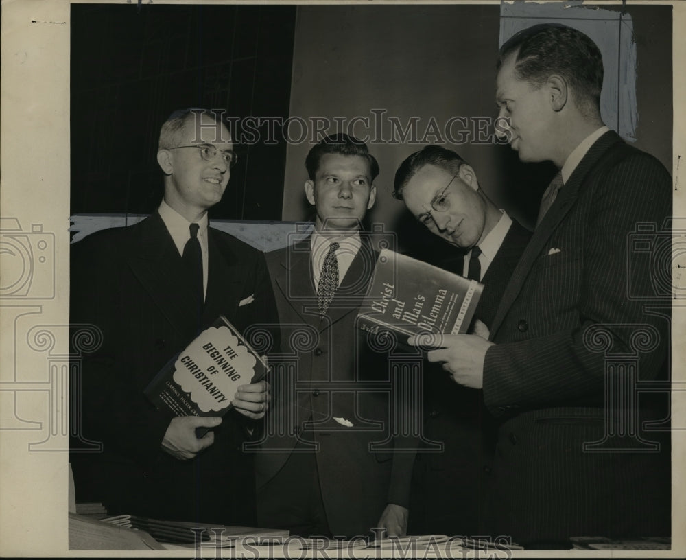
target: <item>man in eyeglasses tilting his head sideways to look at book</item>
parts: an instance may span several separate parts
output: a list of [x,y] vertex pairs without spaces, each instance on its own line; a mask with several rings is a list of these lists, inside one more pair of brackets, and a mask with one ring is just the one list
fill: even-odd
[[[445,246],[438,265],[484,284],[475,317],[490,325],[531,233],[498,209],[456,152],[427,145],[401,163],[394,198]],[[483,535],[484,488],[492,463],[493,419],[481,390],[459,386],[425,364],[424,434],[442,453],[418,453],[412,480],[410,533]]]

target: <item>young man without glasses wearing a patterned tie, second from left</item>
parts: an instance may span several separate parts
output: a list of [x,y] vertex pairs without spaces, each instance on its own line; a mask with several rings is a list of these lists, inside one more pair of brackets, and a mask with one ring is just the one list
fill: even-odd
[[303,536],[403,535],[414,456],[373,448],[390,427],[388,361],[355,325],[377,258],[360,229],[379,165],[364,143],[335,135],[305,166],[314,233],[267,255],[282,354],[294,366],[292,377],[272,376],[268,415],[290,423],[257,454],[259,523]]

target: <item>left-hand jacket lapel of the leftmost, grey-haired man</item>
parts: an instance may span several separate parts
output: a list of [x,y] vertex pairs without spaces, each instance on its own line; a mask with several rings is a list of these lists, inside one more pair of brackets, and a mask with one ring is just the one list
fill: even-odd
[[174,240],[155,212],[138,224],[128,264],[162,314],[183,337],[189,336],[198,315],[192,292],[185,285],[183,264]]

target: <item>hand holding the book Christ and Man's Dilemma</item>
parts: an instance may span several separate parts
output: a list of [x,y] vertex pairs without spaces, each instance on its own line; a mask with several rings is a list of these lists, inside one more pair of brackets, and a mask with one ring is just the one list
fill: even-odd
[[427,353],[429,362],[443,362],[443,369],[453,380],[465,387],[480,389],[484,386],[484,360],[493,342],[477,334],[434,334],[411,336],[414,346],[437,347]]

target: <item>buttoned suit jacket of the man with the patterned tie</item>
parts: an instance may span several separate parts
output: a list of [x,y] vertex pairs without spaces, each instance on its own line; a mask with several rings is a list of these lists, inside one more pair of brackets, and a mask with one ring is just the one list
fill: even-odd
[[320,319],[309,240],[267,255],[283,359],[291,361],[293,376],[285,382],[282,375],[281,384],[272,377],[268,414],[292,423],[288,433],[281,430],[265,441],[269,452],[257,454],[257,484],[281,469],[305,426],[318,445],[322,500],[333,535],[366,535],[388,503],[407,507],[410,493],[414,454],[393,453],[392,441],[377,450],[370,447],[388,438],[390,425],[386,353],[370,349],[355,325],[376,258],[363,239],[327,316]]

